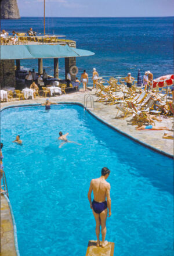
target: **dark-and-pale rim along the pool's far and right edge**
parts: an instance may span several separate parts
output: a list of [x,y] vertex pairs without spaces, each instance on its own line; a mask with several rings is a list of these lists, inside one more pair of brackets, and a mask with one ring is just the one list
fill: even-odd
[[[130,134],[125,133],[122,130],[119,130],[117,127],[107,123],[102,118],[99,118],[99,116],[95,115],[95,113],[90,111],[88,108],[86,109],[84,104],[82,104],[80,102],[66,102],[66,101],[64,101],[64,102],[57,102],[57,105],[64,105],[64,104],[66,104],[66,105],[79,105],[79,106],[82,106],[82,108],[84,108],[86,111],[88,111],[90,113],[90,115],[95,117],[100,122],[104,123],[104,125],[107,125],[111,129],[113,129],[113,130],[117,131],[118,133],[124,135],[125,137],[130,138],[131,140],[135,141],[136,143],[138,143],[140,145],[143,145],[144,147],[149,148],[150,150],[153,150],[153,151],[157,152],[158,154],[162,154],[162,155],[164,155],[165,157],[168,157],[168,158],[172,158],[172,159],[174,158],[174,156],[172,154],[169,154],[168,152],[165,152],[163,150],[155,148],[155,147],[153,147],[150,144],[144,143],[143,141],[139,140],[138,138],[135,138],[135,137],[131,136]],[[4,111],[5,109],[8,109],[8,108],[18,108],[18,107],[27,107],[27,106],[39,106],[39,105],[41,105],[41,104],[37,103],[37,104],[11,105],[11,106],[6,106],[6,107],[2,108],[0,112]]]

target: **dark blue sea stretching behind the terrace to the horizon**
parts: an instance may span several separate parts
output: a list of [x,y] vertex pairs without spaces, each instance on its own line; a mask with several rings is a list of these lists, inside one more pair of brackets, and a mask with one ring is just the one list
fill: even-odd
[[[95,52],[94,56],[77,58],[79,73],[86,69],[89,76],[96,67],[100,76],[137,77],[150,70],[154,78],[173,73],[174,17],[46,17],[46,33],[66,35],[75,40],[77,48]],[[1,30],[26,32],[30,27],[44,32],[42,17],[21,17],[1,20]],[[21,61],[29,69],[37,67],[37,59]],[[44,67],[53,74],[53,60],[45,59]],[[59,74],[64,77],[64,59],[59,61]],[[79,75],[78,75],[79,76]]]

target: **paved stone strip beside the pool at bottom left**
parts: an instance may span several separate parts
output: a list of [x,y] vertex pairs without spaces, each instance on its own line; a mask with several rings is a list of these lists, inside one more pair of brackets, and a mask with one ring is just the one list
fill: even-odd
[[1,195],[1,256],[16,256],[14,230],[9,204]]

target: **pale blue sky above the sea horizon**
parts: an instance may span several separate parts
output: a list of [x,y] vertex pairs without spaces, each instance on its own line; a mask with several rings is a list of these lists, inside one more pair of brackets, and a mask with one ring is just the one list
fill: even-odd
[[[48,17],[174,16],[174,0],[45,0]],[[43,16],[44,0],[17,0],[20,16]]]

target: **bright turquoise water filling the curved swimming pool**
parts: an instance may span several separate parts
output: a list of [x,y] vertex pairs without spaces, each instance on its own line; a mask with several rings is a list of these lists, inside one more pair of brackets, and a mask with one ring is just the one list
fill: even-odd
[[[70,133],[59,148],[59,131]],[[12,143],[20,134],[23,145]],[[87,193],[111,170],[114,255],[173,255],[173,161],[122,136],[78,105],[1,112],[3,165],[21,256],[85,255],[95,240]]]

